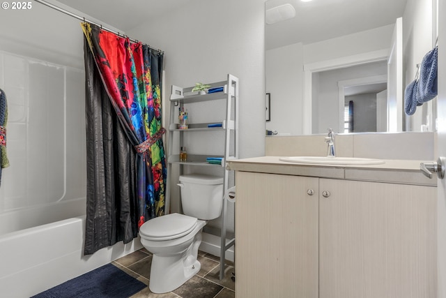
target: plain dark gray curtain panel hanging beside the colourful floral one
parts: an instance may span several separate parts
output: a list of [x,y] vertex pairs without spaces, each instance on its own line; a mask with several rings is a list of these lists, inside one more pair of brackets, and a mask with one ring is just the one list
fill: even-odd
[[[84,37],[85,39],[85,37]],[[135,152],[119,123],[88,43],[86,76],[87,210],[84,253],[137,237]]]

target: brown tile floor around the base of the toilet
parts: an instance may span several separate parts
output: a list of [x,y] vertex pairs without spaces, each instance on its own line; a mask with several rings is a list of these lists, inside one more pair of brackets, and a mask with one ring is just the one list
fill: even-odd
[[[234,298],[235,283],[231,279],[234,272],[233,263],[226,263],[225,276],[220,281],[220,258],[199,251],[198,260],[201,263],[199,273],[180,288],[165,294],[155,294],[147,287],[131,298]],[[145,248],[125,255],[112,264],[148,285],[152,255]]]

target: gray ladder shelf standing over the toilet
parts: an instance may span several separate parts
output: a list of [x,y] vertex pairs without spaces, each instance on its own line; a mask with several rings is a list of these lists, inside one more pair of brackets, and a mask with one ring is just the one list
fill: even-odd
[[[233,158],[238,158],[238,78],[228,74],[225,81],[210,83],[210,89],[222,87],[222,91],[210,93],[210,94],[191,94],[193,87],[181,88],[172,85],[172,92],[170,97],[170,121],[169,121],[169,152],[167,157],[167,171],[168,181],[171,182],[171,170],[172,167],[179,166],[179,173],[185,172],[185,167],[215,167],[222,169],[223,176],[223,190],[224,194],[229,190],[235,181],[233,175],[231,177],[231,183],[229,181],[229,172],[226,170],[226,161]],[[190,95],[187,95],[190,94]],[[178,117],[178,108],[183,108],[187,105],[190,109],[194,109],[194,105],[191,103],[203,103],[211,100],[226,100],[226,115],[224,119],[215,119],[215,122],[206,123],[190,123],[187,129],[178,129],[176,119]],[[197,105],[199,107],[199,105]],[[221,127],[209,127],[211,124],[221,124]],[[203,155],[203,154],[191,154],[187,152],[187,161],[180,161],[178,154],[174,154],[176,149],[174,148],[174,133],[179,134],[180,147],[183,146],[183,142],[189,133],[208,133],[208,132],[220,132],[224,133],[224,155]],[[177,136],[178,137],[178,136]],[[203,135],[203,137],[206,137]],[[215,165],[206,163],[206,157],[221,157],[222,164]],[[170,189],[167,188],[166,193],[166,210],[169,210],[170,206]],[[222,198],[223,207],[220,230],[220,279],[224,278],[224,264],[226,260],[226,251],[235,244],[235,237],[232,239],[226,239],[226,213],[227,213],[227,200]]]

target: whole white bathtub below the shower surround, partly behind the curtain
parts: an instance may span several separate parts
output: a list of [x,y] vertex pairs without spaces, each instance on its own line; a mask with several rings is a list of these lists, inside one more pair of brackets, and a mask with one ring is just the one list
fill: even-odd
[[1,297],[31,297],[142,248],[134,239],[84,256],[85,201],[0,214]]

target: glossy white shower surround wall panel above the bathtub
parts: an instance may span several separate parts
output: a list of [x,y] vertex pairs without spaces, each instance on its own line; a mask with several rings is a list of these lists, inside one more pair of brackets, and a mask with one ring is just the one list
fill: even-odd
[[85,197],[84,71],[0,50],[0,86],[10,161],[0,216]]

